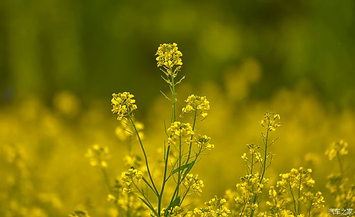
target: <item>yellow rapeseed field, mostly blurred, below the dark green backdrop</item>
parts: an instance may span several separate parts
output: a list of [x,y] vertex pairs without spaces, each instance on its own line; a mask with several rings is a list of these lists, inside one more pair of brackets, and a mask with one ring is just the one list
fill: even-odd
[[0,216],[355,215],[353,110],[306,81],[255,100],[253,58],[192,85],[183,53],[158,47],[144,111],[128,90],[1,106]]

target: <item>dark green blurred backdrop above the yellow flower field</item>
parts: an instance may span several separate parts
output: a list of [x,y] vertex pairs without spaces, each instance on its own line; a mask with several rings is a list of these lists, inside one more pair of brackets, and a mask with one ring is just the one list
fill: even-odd
[[[345,1],[1,1],[2,102],[69,90],[84,102],[161,85],[154,54],[183,51],[188,82],[222,84],[245,58],[263,71],[250,97],[307,80],[337,108],[355,105],[355,18]],[[157,90],[140,97],[146,105]]]

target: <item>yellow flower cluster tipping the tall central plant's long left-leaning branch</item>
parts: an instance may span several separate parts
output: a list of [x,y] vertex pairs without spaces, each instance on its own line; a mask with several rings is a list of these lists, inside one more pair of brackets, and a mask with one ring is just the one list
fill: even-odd
[[133,110],[137,108],[134,104],[134,96],[129,92],[123,92],[118,94],[112,94],[112,112],[117,113],[117,119],[122,120],[127,115],[130,115]]

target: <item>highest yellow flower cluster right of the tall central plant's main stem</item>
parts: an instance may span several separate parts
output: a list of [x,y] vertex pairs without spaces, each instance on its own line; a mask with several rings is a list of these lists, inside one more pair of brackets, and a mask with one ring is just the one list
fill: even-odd
[[190,95],[187,100],[185,100],[186,106],[183,108],[183,113],[193,112],[195,116],[201,115],[202,117],[207,116],[207,111],[209,110],[209,101],[206,97],[200,97],[195,95]]

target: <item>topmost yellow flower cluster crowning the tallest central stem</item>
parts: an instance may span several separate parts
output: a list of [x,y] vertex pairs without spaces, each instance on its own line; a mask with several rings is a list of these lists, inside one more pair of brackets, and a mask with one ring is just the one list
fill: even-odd
[[181,56],[183,54],[177,50],[177,44],[161,44],[158,48],[158,51],[155,55],[158,55],[156,58],[158,67],[165,66],[168,69],[173,68],[174,66],[181,66],[183,62]]

